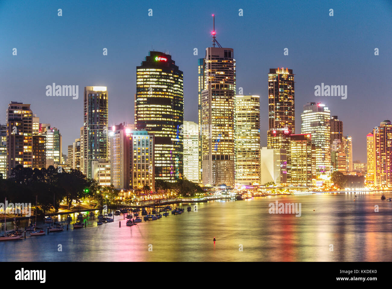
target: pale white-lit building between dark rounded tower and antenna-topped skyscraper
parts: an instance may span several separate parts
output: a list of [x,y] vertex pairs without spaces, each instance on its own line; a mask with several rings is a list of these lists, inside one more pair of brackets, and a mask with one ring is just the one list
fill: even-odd
[[191,182],[199,182],[199,125],[184,120],[184,177]]

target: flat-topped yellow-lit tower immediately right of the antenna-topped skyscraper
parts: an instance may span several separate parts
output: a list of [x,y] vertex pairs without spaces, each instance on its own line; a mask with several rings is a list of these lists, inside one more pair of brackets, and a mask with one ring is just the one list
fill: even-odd
[[260,96],[237,95],[234,112],[235,181],[260,184]]

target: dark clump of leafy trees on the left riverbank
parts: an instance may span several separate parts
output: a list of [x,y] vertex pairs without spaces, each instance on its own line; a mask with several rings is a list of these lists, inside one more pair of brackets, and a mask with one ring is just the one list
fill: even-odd
[[78,170],[60,173],[53,166],[31,169],[18,165],[12,169],[10,178],[4,179],[0,175],[0,202],[7,197],[9,203],[31,203],[35,206],[36,196],[44,213],[53,207],[57,212],[60,201],[64,201],[68,209],[73,200],[88,198],[98,205],[103,203],[100,186]]

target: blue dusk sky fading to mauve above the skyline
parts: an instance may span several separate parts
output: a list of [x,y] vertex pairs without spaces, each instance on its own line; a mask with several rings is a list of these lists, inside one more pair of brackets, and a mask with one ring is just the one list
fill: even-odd
[[[168,50],[183,71],[184,119],[197,122],[197,63],[212,45],[214,13],[217,40],[234,49],[237,89],[260,95],[261,145],[267,145],[269,69],[289,67],[296,133],[303,105],[322,102],[352,136],[353,160],[366,162],[367,133],[392,120],[392,1],[322,2],[0,0],[0,123],[10,101],[31,104],[40,122],[60,129],[67,154],[80,136],[89,85],[107,86],[109,126],[132,123],[136,66],[152,49]],[[79,85],[79,99],[46,96],[53,82]],[[314,96],[322,82],[347,85],[347,99]]]

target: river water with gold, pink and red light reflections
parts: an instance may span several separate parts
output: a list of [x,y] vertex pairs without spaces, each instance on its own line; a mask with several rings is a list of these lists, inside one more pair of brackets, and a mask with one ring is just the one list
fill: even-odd
[[[301,203],[301,217],[269,214],[276,200]],[[198,212],[132,227],[122,215],[100,226],[89,217],[87,228],[0,242],[0,261],[392,261],[392,202],[379,193],[353,200],[343,193],[199,203]]]

